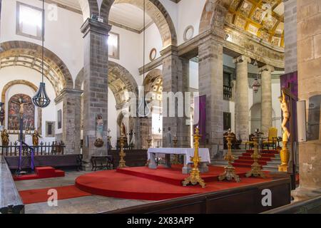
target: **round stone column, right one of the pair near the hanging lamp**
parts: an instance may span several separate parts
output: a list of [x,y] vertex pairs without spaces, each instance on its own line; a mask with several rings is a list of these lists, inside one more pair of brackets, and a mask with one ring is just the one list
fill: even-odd
[[261,74],[261,132],[267,137],[269,128],[272,128],[272,66],[260,68]]

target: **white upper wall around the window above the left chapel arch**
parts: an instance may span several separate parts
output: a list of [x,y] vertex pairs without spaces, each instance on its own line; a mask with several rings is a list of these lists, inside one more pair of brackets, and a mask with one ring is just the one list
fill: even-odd
[[[42,8],[39,0],[19,0]],[[46,9],[48,4],[45,4]],[[45,47],[56,53],[68,67],[73,79],[83,68],[83,34],[80,31],[83,24],[81,14],[58,9],[57,21],[45,22]],[[48,12],[48,11],[47,11]],[[57,41],[57,39],[59,41]],[[1,38],[0,41],[29,41],[41,45],[41,41],[26,36],[16,35],[16,0],[3,0],[1,9]]]

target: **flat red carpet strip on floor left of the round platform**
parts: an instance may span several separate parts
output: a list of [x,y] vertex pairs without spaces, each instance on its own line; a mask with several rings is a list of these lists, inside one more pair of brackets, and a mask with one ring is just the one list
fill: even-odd
[[71,199],[76,197],[86,197],[91,195],[91,193],[83,192],[79,190],[76,186],[64,186],[64,187],[49,187],[40,190],[25,190],[19,191],[22,201],[24,204],[34,204],[36,202],[47,202],[50,195],[48,191],[54,189],[58,192],[59,199]]

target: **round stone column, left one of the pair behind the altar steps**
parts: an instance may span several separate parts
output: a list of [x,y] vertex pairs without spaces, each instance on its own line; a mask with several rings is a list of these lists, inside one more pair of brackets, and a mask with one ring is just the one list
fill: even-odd
[[236,63],[236,90],[235,90],[235,135],[243,142],[248,140],[248,63],[251,58],[239,56]]

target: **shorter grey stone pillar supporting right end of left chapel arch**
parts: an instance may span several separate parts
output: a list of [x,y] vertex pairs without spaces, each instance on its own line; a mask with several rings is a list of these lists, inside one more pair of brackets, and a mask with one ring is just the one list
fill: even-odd
[[55,99],[63,102],[62,141],[66,145],[65,154],[80,154],[81,147],[81,93],[82,90],[65,88]]

